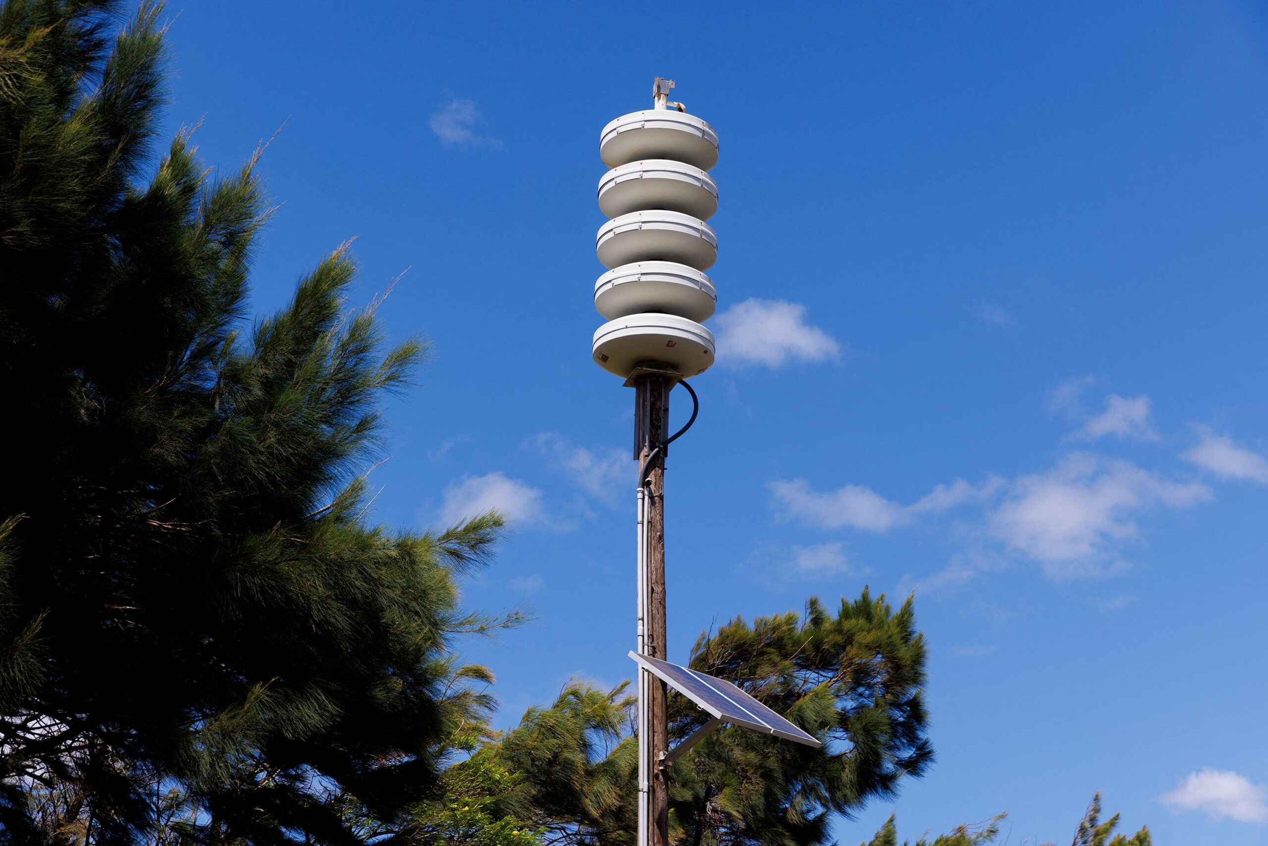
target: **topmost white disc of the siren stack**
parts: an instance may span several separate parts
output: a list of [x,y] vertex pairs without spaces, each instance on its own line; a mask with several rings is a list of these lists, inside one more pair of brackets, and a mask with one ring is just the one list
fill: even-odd
[[642,159],[672,159],[709,170],[718,164],[718,133],[692,114],[668,109],[631,112],[604,127],[598,155],[609,167]]

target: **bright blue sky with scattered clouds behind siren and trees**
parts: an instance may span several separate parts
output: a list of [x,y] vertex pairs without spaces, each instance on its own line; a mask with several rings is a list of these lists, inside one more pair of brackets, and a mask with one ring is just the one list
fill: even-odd
[[[1102,790],[1160,843],[1268,840],[1268,11],[1208,3],[174,6],[169,132],[262,161],[257,309],[349,237],[393,337],[377,515],[516,519],[467,586],[501,724],[631,674],[633,394],[590,360],[598,131],[713,123],[718,365],[670,462],[671,657],[915,591],[915,837]],[[675,419],[685,413],[677,401]]]

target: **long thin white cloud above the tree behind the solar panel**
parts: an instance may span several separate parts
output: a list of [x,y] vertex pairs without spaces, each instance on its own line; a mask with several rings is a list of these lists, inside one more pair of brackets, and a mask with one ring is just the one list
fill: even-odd
[[981,485],[955,479],[938,485],[912,505],[886,500],[870,487],[846,485],[836,491],[815,491],[805,479],[779,479],[770,483],[771,496],[784,519],[809,523],[823,529],[860,529],[889,531],[910,523],[919,514],[941,514],[966,502],[995,495],[1004,482],[990,476]]

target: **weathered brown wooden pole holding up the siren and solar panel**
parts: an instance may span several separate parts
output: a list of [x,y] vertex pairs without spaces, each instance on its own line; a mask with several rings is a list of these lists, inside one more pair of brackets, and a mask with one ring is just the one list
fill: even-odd
[[[644,651],[653,658],[668,661],[666,649],[664,615],[664,454],[670,436],[670,391],[676,378],[656,372],[634,377],[634,455],[638,458],[639,478],[644,479],[647,497],[647,569],[643,585],[647,606],[644,609]],[[652,452],[661,448],[654,457]],[[647,467],[652,458],[652,467]],[[648,808],[648,833],[650,846],[670,846],[670,791],[667,772],[661,769],[661,758],[670,751],[670,715],[666,709],[666,684],[650,674],[648,682],[648,739],[642,755],[648,756],[647,770],[650,783]]]

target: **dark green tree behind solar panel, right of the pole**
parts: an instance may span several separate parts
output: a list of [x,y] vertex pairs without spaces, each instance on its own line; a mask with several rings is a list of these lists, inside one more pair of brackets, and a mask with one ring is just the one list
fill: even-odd
[[[699,842],[714,842],[709,835],[720,843],[825,842],[833,813],[848,817],[870,799],[893,797],[903,775],[919,776],[932,762],[924,662],[912,600],[894,611],[866,590],[842,600],[836,615],[812,599],[804,616],[760,618],[752,627],[737,619],[701,637],[692,668],[744,687],[824,747],[720,732],[671,772],[678,785],[672,812]],[[677,696],[670,718],[676,736],[704,722]]]

